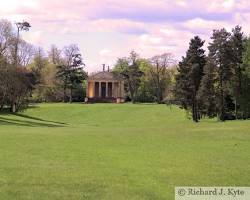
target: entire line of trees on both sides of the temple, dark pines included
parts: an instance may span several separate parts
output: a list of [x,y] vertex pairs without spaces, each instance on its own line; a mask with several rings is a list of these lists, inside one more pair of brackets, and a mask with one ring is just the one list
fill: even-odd
[[[77,45],[52,45],[47,53],[23,40],[27,22],[0,21],[0,110],[12,112],[29,102],[83,102],[87,73]],[[250,117],[250,37],[240,26],[214,30],[205,41],[195,36],[176,66],[171,54],[150,59],[132,51],[113,68],[125,80],[126,100],[180,105],[198,122]]]

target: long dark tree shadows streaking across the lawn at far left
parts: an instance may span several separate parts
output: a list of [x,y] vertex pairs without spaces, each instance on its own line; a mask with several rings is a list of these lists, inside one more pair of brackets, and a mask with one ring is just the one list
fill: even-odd
[[[26,127],[65,127],[66,123],[43,120],[36,117],[31,117],[23,114],[10,114],[9,117],[0,115],[0,125],[14,125]],[[10,118],[10,116],[17,116],[18,118]]]

